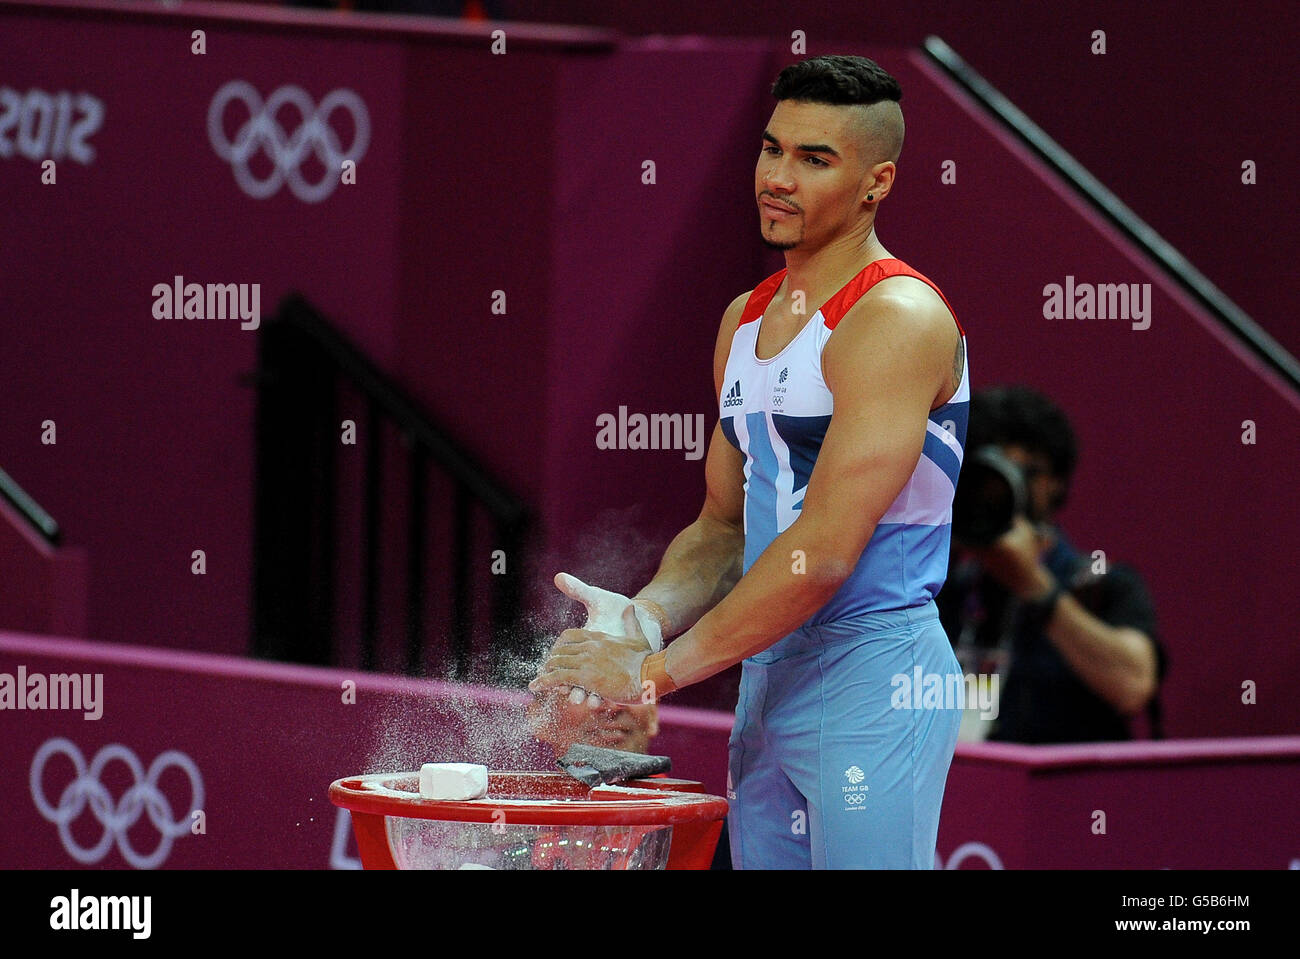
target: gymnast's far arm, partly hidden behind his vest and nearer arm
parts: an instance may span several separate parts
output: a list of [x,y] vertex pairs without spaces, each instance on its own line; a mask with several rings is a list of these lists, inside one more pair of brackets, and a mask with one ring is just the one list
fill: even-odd
[[[722,394],[732,337],[749,294],[723,313],[714,347],[714,395]],[[740,580],[745,551],[745,456],[714,426],[705,459],[705,504],[693,524],[668,544],[659,570],[633,602],[645,607],[667,639],[712,609]]]

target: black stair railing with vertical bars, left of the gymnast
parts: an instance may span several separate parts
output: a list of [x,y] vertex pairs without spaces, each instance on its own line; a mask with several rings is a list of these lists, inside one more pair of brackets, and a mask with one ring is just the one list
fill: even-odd
[[[361,398],[361,500],[339,496],[339,385]],[[381,599],[382,512],[404,511],[407,535],[404,645],[402,668],[425,671],[428,574],[426,535],[434,470],[451,483],[451,537],[439,576],[451,580],[447,609],[448,678],[469,678],[474,634],[474,511],[493,524],[493,542],[504,550],[514,574],[491,576],[493,648],[486,664],[497,676],[521,639],[519,620],[520,548],[529,524],[525,505],[448,439],[424,409],[384,374],[299,295],[286,298],[259,334],[257,494],[254,547],[254,652],[302,663],[339,663],[335,634],[338,511],[358,509],[360,542],[360,665],[381,667],[377,642],[385,617]],[[400,437],[407,457],[404,499],[384,495],[385,429]],[[400,480],[400,477],[396,477]],[[486,559],[486,555],[481,556]],[[443,572],[445,570],[445,572]]]

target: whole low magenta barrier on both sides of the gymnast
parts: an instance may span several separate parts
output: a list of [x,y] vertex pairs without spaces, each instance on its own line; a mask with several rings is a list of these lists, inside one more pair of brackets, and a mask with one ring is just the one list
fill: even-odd
[[[20,668],[100,674],[101,715],[0,713],[0,781],[14,784],[0,868],[347,867],[356,850],[326,798],[332,781],[425,761],[494,771],[554,761],[528,735],[525,693],[0,633],[0,673]],[[654,751],[672,758],[675,777],[723,795],[731,720],[664,706]],[[78,758],[98,768],[69,789]],[[944,797],[939,865],[1286,868],[1300,850],[1297,765],[1297,737],[962,745]],[[144,806],[133,817],[125,795],[142,781]],[[161,823],[177,824],[169,839]]]

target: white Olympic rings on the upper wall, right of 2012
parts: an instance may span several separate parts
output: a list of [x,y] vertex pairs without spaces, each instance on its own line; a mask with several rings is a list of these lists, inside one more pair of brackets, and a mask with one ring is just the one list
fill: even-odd
[[[248,110],[248,120],[231,139],[226,139],[226,108],[235,100]],[[285,105],[292,107],[302,121],[292,134],[286,134],[276,120]],[[329,122],[339,109],[351,116],[355,130],[346,151]],[[274,196],[281,186],[289,183],[294,196],[303,203],[320,203],[338,186],[343,161],[360,161],[365,155],[365,148],[370,144],[370,114],[361,97],[351,90],[334,90],[316,107],[306,90],[285,86],[263,103],[261,95],[251,83],[230,81],[208,105],[208,139],[217,156],[234,169],[239,187],[254,199]],[[248,161],[259,149],[265,151],[273,164],[265,179],[257,179],[248,168]],[[325,177],[320,183],[308,183],[299,169],[312,153],[325,168]]]

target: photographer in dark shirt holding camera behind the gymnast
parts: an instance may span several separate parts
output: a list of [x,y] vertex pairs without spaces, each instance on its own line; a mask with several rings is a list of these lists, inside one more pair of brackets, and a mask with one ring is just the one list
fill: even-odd
[[1076,459],[1065,415],[1027,387],[976,392],[966,448],[936,602],[963,671],[1000,676],[987,738],[1130,739],[1143,710],[1160,737],[1150,598],[1134,569],[1079,554],[1053,522]]

